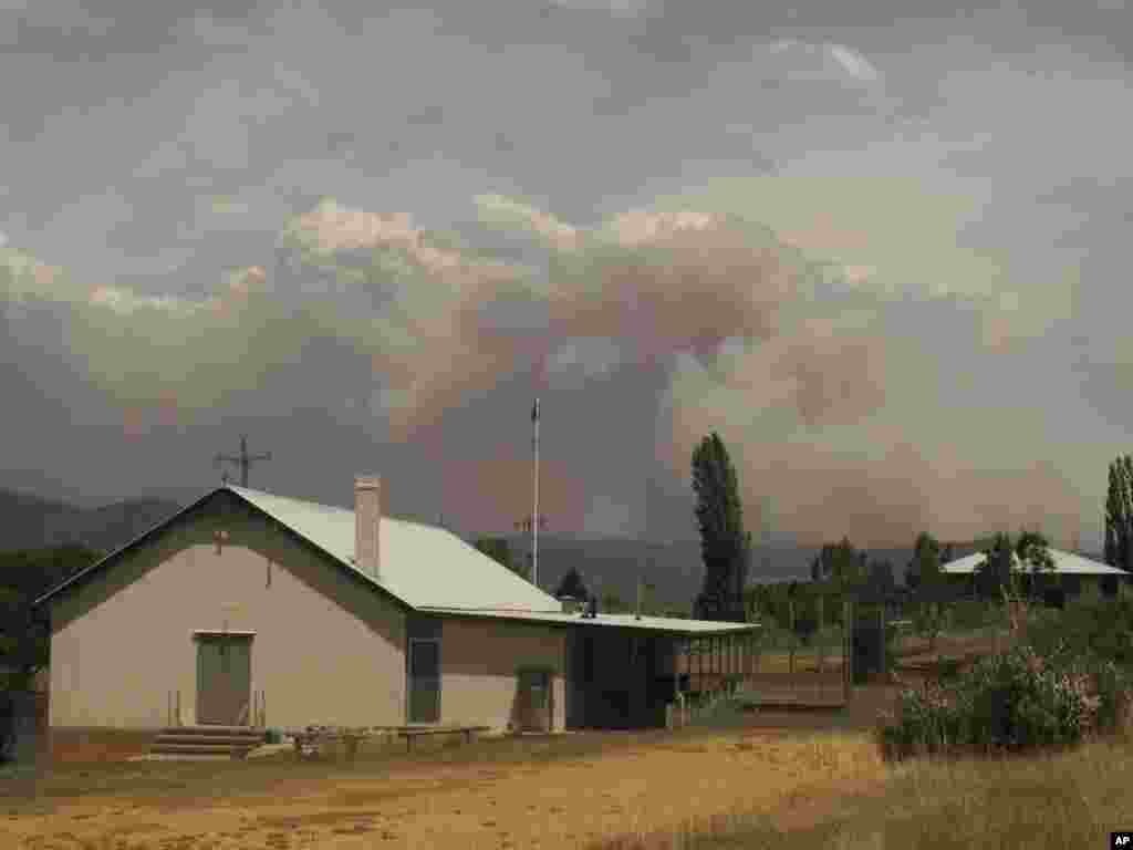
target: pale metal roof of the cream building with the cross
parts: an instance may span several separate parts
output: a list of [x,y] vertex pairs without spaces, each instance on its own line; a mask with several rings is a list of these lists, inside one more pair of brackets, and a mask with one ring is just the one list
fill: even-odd
[[224,485],[211,491],[182,511],[107,555],[80,573],[35,601],[46,602],[80,578],[108,566],[127,550],[218,493],[229,492],[262,511],[324,552],[340,567],[375,588],[381,588],[412,609],[437,614],[525,619],[562,624],[621,626],[681,634],[723,634],[757,628],[680,618],[641,618],[603,614],[580,619],[566,614],[562,602],[519,577],[444,528],[382,517],[378,527],[378,578],[359,570],[355,558],[355,512],[347,508],[306,502],[259,490]]

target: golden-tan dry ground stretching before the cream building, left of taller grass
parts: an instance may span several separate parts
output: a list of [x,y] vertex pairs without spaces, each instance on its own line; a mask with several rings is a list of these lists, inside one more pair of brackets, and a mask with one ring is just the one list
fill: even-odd
[[401,765],[288,776],[259,793],[61,798],[6,811],[0,847],[36,850],[577,848],[735,809],[782,813],[879,787],[868,739],[744,732],[673,739],[538,766]]

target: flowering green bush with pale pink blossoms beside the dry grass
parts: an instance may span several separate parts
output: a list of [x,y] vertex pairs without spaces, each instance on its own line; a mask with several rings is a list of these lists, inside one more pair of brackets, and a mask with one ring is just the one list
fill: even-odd
[[946,692],[905,690],[879,726],[888,757],[954,750],[1025,750],[1077,743],[1116,726],[1131,679],[1110,661],[1019,646],[978,662]]

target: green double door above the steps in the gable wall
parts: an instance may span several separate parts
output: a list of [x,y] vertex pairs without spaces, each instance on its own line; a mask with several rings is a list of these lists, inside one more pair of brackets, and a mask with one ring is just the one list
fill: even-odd
[[197,723],[248,725],[252,700],[252,638],[197,637]]

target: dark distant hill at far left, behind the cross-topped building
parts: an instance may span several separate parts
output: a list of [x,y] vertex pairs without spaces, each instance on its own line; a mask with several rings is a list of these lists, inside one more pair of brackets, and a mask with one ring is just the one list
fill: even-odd
[[0,490],[0,551],[82,543],[112,552],[182,507],[167,499],[131,499],[102,508],[76,508]]

